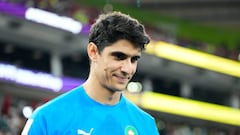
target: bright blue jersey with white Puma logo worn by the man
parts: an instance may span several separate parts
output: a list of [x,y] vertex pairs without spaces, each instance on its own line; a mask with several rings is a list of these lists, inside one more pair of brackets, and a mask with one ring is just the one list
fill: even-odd
[[154,118],[121,96],[116,105],[91,99],[82,86],[42,105],[22,135],[159,135]]

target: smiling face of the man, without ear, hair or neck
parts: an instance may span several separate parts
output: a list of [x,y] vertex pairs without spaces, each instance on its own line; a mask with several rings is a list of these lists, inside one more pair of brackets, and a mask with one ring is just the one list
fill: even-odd
[[136,72],[141,49],[127,40],[119,40],[97,54],[94,72],[101,86],[122,91]]

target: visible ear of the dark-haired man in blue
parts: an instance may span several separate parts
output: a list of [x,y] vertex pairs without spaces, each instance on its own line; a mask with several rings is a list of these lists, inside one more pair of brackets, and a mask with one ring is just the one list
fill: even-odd
[[88,57],[91,61],[96,61],[98,56],[98,48],[97,45],[93,42],[88,43],[87,47]]

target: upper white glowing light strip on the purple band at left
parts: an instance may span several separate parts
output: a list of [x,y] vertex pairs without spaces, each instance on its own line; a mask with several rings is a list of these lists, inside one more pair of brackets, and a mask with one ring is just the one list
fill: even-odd
[[25,14],[25,18],[27,20],[67,30],[74,34],[78,34],[82,30],[82,24],[72,18],[59,16],[55,13],[37,8],[28,8]]

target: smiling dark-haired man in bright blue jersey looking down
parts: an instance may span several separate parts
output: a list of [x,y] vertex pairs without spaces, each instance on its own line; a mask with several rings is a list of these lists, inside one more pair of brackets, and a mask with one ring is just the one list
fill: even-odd
[[39,107],[22,135],[158,135],[153,117],[122,95],[148,43],[136,19],[100,15],[89,35],[87,81]]

